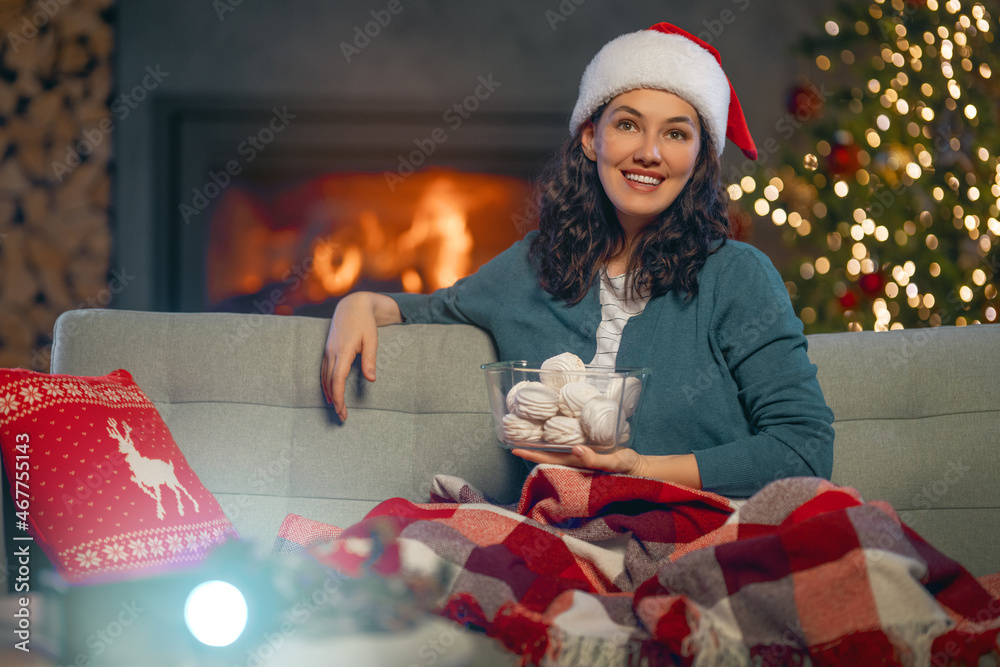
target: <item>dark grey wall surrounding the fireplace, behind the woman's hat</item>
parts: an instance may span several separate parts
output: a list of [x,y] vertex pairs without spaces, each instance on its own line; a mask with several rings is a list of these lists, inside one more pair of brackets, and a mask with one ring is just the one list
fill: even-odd
[[[234,4],[239,2],[238,5]],[[386,10],[392,4],[397,14]],[[758,145],[778,137],[786,91],[806,67],[790,46],[822,25],[820,3],[775,0],[120,0],[117,87],[144,83],[146,99],[112,107],[116,120],[113,264],[136,278],[115,306],[151,309],[157,247],[152,230],[153,109],[159,96],[262,96],[448,108],[492,75],[505,108],[564,109],[597,50],[619,34],[668,20],[704,32],[743,102]],[[231,11],[224,11],[224,8]],[[352,53],[356,28],[384,20]],[[363,42],[361,42],[363,44]],[[150,72],[159,75],[152,77]],[[147,69],[148,68],[148,69]],[[491,102],[493,100],[491,99]],[[116,110],[117,109],[117,110]],[[125,115],[127,112],[127,115]],[[415,137],[416,138],[416,137]],[[730,146],[724,160],[739,164]],[[759,230],[762,247],[773,243]]]

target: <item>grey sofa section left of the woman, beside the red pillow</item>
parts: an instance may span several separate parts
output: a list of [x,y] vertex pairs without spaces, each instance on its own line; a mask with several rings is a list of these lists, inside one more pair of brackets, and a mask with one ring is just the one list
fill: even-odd
[[509,502],[526,469],[493,435],[472,327],[379,331],[377,377],[348,378],[347,420],[319,371],[329,321],[80,310],[56,324],[52,372],[132,373],[241,536],[270,551],[289,512],[341,527],[391,497],[426,501],[435,473]]

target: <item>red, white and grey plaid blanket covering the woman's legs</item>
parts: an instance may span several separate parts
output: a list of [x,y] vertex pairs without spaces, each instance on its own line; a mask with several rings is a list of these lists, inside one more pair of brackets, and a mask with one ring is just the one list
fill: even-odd
[[[330,530],[302,521],[290,516],[279,542],[308,545],[310,526]],[[352,576],[444,568],[440,613],[525,665],[975,665],[1000,655],[1000,579],[988,580],[991,592],[887,503],[816,478],[734,503],[541,465],[519,502],[501,507],[438,476],[430,503],[387,500],[311,552]]]

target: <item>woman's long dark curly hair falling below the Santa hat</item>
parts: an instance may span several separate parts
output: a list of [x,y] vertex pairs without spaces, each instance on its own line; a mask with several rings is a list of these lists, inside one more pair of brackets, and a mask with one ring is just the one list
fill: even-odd
[[[591,116],[595,124],[604,107]],[[629,293],[657,296],[671,290],[693,297],[705,260],[732,238],[722,167],[701,123],[701,148],[691,179],[677,199],[646,225],[626,264]],[[530,256],[541,287],[567,304],[579,303],[601,267],[625,249],[625,232],[583,152],[582,127],[546,166],[537,182],[539,234]]]

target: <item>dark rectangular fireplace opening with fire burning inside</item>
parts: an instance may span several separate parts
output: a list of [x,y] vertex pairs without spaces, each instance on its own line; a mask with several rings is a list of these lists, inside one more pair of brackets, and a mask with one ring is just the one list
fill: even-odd
[[486,104],[161,100],[164,309],[329,316],[474,272],[535,224],[530,179],[566,133],[564,113]]

